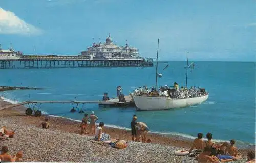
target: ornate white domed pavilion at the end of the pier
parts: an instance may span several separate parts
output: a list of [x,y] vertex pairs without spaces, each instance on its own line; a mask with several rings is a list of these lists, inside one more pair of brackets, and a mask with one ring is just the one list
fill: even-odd
[[93,42],[93,45],[87,48],[87,51],[82,51],[81,55],[84,57],[105,58],[105,59],[143,59],[139,56],[139,49],[130,47],[127,43],[125,46],[118,46],[113,43],[112,38],[106,38],[105,43]]

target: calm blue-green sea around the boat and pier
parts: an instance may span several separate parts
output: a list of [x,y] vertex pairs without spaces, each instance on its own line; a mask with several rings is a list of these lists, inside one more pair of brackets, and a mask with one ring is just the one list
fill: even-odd
[[[135,108],[106,108],[85,104],[106,126],[130,130],[134,114],[151,132],[195,138],[210,132],[216,141],[237,140],[238,146],[255,145],[255,62],[194,62],[188,69],[187,85],[209,92],[207,101],[186,108],[161,111],[136,111]],[[166,69],[164,67],[169,65]],[[117,86],[125,95],[140,86],[155,86],[154,67],[1,69],[0,86],[24,86],[45,90],[0,92],[9,102],[27,100],[83,101],[102,100],[105,92],[116,97]],[[186,83],[186,62],[160,62],[159,85]],[[76,107],[76,106],[75,106]],[[37,104],[44,114],[81,121],[84,113],[71,113],[72,104]],[[82,108],[82,105],[79,105]]]

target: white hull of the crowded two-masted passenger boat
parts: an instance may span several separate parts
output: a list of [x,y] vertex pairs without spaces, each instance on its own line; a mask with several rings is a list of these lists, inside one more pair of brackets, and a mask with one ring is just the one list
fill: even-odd
[[170,97],[132,95],[137,110],[166,110],[181,108],[206,101],[209,94],[199,97],[172,99]]

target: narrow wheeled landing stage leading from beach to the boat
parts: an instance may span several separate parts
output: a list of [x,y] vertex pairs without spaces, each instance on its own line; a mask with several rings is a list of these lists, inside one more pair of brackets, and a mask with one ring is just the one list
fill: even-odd
[[[41,116],[41,111],[36,108],[37,104],[42,103],[71,103],[72,109],[71,112],[79,111],[79,113],[83,113],[83,106],[84,104],[99,104],[103,106],[110,106],[110,107],[122,107],[122,106],[133,106],[134,102],[131,95],[124,96],[126,101],[119,102],[119,98],[110,99],[108,101],[25,101],[20,102],[17,104],[11,104],[4,107],[0,107],[0,110],[5,110],[12,107],[17,107],[21,105],[28,105],[26,109],[27,115],[32,115],[34,113],[35,116]],[[82,104],[82,106],[80,106]],[[38,106],[37,106],[38,107]]]

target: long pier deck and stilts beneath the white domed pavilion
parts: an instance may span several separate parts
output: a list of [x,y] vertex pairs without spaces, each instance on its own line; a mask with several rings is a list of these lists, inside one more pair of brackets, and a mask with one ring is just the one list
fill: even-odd
[[64,68],[64,67],[152,67],[153,59],[142,57],[93,58],[58,55],[20,55],[0,59],[0,69]]

